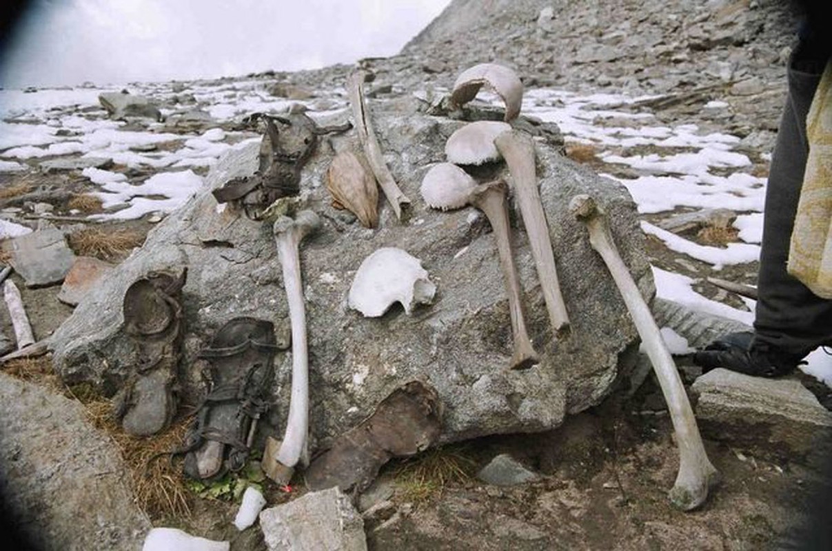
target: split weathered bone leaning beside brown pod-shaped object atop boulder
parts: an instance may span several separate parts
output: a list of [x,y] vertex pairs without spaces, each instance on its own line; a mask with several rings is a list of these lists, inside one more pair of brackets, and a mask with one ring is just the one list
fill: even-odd
[[349,103],[353,107],[355,129],[358,131],[369,168],[373,171],[375,179],[379,181],[379,186],[384,191],[384,196],[387,197],[390,206],[393,207],[396,218],[401,220],[402,205],[410,204],[410,199],[399,189],[399,184],[396,184],[387,163],[384,162],[379,139],[375,136],[373,125],[370,124],[367,105],[364,103],[364,71],[354,71],[349,75],[347,89]]

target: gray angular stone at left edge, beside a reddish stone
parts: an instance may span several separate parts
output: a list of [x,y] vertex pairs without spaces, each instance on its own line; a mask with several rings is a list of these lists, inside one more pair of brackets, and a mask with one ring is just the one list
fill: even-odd
[[11,253],[9,263],[27,287],[46,287],[61,283],[75,263],[75,253],[59,229],[42,229],[2,243]]

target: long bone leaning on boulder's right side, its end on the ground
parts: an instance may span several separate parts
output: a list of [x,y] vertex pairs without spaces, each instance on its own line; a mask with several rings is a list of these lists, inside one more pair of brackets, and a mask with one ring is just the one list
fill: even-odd
[[589,242],[607,264],[622,298],[630,312],[641,341],[653,364],[653,371],[661,386],[670,410],[676,442],[679,446],[679,473],[670,491],[671,502],[682,510],[695,509],[705,502],[708,491],[719,482],[719,472],[711,465],[702,445],[696,417],[691,410],[685,387],[682,386],[676,364],[661,338],[659,327],[636,282],[618,253],[610,233],[607,216],[589,195],[576,195],[569,204],[575,217],[587,225]]

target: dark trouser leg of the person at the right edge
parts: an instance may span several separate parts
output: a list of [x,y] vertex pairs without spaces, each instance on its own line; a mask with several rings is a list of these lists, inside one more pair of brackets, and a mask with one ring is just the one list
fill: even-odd
[[784,352],[805,354],[832,342],[832,301],[817,297],[786,273],[789,244],[809,147],[805,121],[820,73],[789,69],[789,95],[777,132],[765,191],[759,300],[755,316],[758,342]]

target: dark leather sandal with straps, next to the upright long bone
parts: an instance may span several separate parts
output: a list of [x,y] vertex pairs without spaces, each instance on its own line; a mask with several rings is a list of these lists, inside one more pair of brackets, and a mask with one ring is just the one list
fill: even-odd
[[214,479],[240,470],[248,460],[256,421],[269,409],[274,379],[275,327],[235,317],[216,332],[199,357],[209,362],[209,390],[197,409],[185,445],[185,474]]

